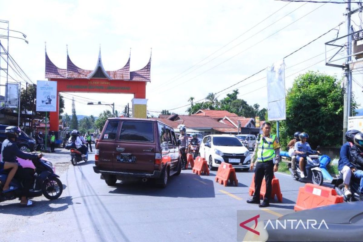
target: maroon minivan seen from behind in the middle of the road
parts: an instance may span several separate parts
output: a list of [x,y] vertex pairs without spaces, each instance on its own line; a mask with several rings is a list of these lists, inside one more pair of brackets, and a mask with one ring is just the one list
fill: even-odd
[[174,130],[157,120],[109,118],[96,145],[93,170],[110,186],[137,177],[156,179],[165,187],[170,176],[181,172]]

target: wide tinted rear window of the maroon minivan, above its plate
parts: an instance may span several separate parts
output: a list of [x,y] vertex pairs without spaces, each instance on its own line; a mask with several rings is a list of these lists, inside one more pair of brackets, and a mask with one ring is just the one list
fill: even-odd
[[151,122],[123,121],[119,140],[154,142],[154,125]]

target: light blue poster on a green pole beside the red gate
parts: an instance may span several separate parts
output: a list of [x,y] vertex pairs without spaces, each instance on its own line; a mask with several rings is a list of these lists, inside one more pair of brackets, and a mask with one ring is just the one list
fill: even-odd
[[57,82],[37,81],[37,112],[57,111]]

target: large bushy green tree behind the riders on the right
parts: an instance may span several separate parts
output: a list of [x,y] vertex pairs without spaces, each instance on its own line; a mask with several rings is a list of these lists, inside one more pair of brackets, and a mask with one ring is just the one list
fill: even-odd
[[[286,120],[281,122],[281,143],[294,132],[309,134],[309,144],[340,145],[343,130],[343,94],[337,77],[309,71],[295,78],[286,95]],[[353,100],[352,108],[357,104]]]

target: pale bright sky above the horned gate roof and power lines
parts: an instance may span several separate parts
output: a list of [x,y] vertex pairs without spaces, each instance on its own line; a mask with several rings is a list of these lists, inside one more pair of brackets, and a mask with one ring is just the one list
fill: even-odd
[[[119,69],[125,65],[130,48],[130,69],[138,70],[146,65],[152,48],[151,83],[147,84],[148,110],[160,111],[188,104],[187,100],[191,96],[198,100],[210,92],[215,93],[224,89],[278,61],[344,21],[342,15],[345,10],[344,4],[325,4],[272,37],[256,44],[322,5],[286,4],[274,0],[7,1],[1,5],[0,16],[10,21],[10,29],[19,30],[27,35],[28,45],[21,40],[11,39],[9,53],[33,81],[44,79],[45,41],[48,55],[58,67],[66,66],[68,44],[72,61],[77,66],[90,70],[94,69],[97,62],[99,45],[106,70]],[[200,62],[284,5],[286,7],[268,20]],[[261,31],[298,7],[300,8],[290,15]],[[353,4],[353,7],[356,6]],[[358,15],[354,18],[359,25]],[[339,36],[346,33],[345,28],[345,25],[341,26]],[[332,40],[336,35],[337,31],[334,30],[286,58],[286,68],[324,52],[324,42]],[[242,44],[237,45],[241,42]],[[233,46],[236,47],[222,54]],[[215,59],[212,60],[213,58]],[[229,58],[231,59],[228,60]],[[299,72],[323,59],[324,55],[321,55],[287,69],[286,76],[297,74],[286,78],[286,87],[291,86],[296,75],[306,70],[325,71],[340,78],[342,70],[327,67],[325,62]],[[191,66],[193,66],[191,69],[183,73]],[[172,79],[177,75],[179,75],[177,78]],[[262,72],[237,87],[265,76],[266,73]],[[362,75],[354,77],[357,82],[363,84]],[[4,84],[3,77],[0,79],[0,84]],[[253,91],[265,84],[266,80],[263,79],[241,87],[240,98],[249,104],[259,103],[261,107],[266,107],[267,90],[264,88]],[[356,84],[353,89],[358,102],[363,103],[361,89]],[[115,102],[118,110],[122,110],[123,105],[128,102],[131,104],[132,98],[132,95],[127,94],[75,95]],[[219,99],[224,96],[225,94],[220,95]],[[72,94],[66,97],[71,98]],[[76,97],[76,100],[77,114],[98,115],[105,109],[104,106],[92,108],[86,106],[84,104],[87,102],[86,99]],[[65,111],[70,113],[70,110],[71,103],[66,99]],[[184,107],[173,111],[183,113],[185,110]]]

